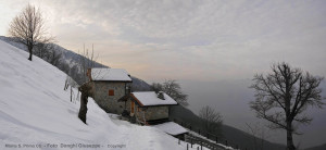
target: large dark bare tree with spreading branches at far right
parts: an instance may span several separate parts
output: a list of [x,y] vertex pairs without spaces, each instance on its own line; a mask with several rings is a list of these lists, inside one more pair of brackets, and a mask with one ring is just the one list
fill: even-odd
[[309,107],[322,108],[322,89],[318,88],[323,77],[311,75],[287,63],[272,65],[272,73],[254,76],[250,88],[255,90],[255,100],[250,108],[259,118],[271,122],[272,129],[287,130],[287,149],[294,150],[292,134],[299,134],[298,124],[309,124],[312,117],[303,112]]

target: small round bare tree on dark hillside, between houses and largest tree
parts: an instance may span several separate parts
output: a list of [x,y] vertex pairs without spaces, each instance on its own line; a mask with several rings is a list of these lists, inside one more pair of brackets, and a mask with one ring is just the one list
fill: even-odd
[[209,133],[216,132],[223,123],[222,115],[209,105],[199,111],[199,117],[202,118],[203,128]]

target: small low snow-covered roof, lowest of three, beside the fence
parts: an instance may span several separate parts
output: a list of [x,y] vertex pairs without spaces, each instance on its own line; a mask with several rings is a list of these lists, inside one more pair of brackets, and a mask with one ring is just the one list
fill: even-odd
[[153,127],[159,128],[160,130],[163,130],[164,133],[173,136],[188,133],[186,128],[174,122],[166,122],[163,124],[153,125]]

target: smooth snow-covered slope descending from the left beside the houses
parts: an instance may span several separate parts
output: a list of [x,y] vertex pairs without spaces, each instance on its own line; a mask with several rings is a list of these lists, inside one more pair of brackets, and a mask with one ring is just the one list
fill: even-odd
[[112,121],[92,99],[85,125],[77,117],[79,101],[63,90],[66,75],[27,58],[0,40],[0,149],[186,149],[158,128]]

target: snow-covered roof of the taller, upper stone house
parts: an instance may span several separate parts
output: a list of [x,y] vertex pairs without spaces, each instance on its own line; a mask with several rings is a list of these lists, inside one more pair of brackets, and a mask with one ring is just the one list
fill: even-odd
[[91,68],[92,80],[131,82],[130,75],[123,68]]

